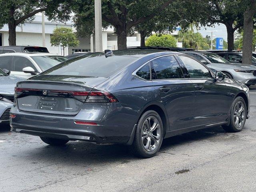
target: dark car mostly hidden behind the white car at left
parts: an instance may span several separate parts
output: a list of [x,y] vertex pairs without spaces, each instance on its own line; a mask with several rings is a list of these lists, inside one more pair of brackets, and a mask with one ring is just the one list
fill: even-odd
[[16,52],[39,52],[39,53],[49,53],[46,47],[38,46],[0,46],[0,54],[2,53],[16,53]]

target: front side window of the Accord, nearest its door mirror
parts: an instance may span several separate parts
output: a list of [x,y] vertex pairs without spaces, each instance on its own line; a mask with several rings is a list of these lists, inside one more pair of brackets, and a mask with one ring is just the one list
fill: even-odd
[[190,78],[212,78],[209,70],[198,61],[186,56],[180,56],[180,59],[186,66]]

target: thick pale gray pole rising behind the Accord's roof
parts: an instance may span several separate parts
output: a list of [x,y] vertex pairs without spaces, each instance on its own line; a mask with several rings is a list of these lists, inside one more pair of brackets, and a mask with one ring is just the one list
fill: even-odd
[[94,0],[95,12],[95,51],[102,52],[101,0]]

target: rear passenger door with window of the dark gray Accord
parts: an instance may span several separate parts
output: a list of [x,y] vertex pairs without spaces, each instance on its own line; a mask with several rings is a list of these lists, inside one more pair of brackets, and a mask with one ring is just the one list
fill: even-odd
[[[168,114],[170,130],[193,126],[194,87],[173,55],[151,61],[152,82]],[[168,130],[167,130],[168,131]]]

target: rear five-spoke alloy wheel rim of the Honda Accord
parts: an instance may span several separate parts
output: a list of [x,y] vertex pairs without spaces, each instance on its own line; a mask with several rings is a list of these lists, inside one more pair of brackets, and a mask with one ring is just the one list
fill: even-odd
[[158,122],[157,118],[154,116],[148,117],[144,121],[141,130],[141,138],[144,149],[148,152],[154,151],[159,144],[161,134],[160,123]]

